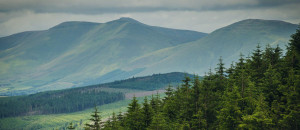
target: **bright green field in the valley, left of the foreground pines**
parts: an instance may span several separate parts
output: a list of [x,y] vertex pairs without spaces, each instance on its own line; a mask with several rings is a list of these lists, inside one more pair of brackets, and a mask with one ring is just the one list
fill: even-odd
[[[160,94],[164,96],[163,93]],[[150,97],[149,97],[150,98]],[[149,99],[148,98],[148,99]],[[140,103],[144,97],[137,98]],[[119,113],[127,110],[127,105],[130,103],[130,99],[118,101],[111,104],[98,106],[101,111],[102,119],[105,120],[112,115],[113,112]],[[21,116],[21,117],[10,117],[0,119],[1,130],[16,130],[16,129],[63,129],[73,122],[77,129],[83,128],[84,124],[88,122],[90,115],[94,109],[86,109],[80,112],[67,113],[67,114],[50,114],[50,115],[34,115],[34,116]],[[81,122],[81,125],[80,125]]]

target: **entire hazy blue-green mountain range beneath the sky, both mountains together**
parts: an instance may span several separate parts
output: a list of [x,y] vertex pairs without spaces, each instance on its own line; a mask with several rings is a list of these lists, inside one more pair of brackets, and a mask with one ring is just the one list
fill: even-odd
[[166,72],[203,75],[220,56],[230,64],[257,43],[284,47],[297,25],[249,19],[210,34],[130,18],[65,22],[0,38],[0,94],[18,95]]

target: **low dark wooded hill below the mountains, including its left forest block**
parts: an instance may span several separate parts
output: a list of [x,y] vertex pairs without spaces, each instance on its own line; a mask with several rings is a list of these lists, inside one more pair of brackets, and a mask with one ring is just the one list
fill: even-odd
[[123,100],[126,93],[165,89],[171,84],[175,87],[182,83],[185,76],[193,77],[173,72],[25,96],[1,97],[0,118],[81,111],[94,107],[95,104],[104,105]]

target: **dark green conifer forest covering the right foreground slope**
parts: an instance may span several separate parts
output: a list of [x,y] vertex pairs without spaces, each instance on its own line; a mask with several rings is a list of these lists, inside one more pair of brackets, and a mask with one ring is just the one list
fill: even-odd
[[299,29],[285,55],[278,46],[258,45],[227,69],[220,58],[203,80],[186,77],[163,99],[156,95],[140,104],[133,98],[126,113],[106,122],[96,108],[86,129],[300,129]]

